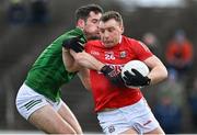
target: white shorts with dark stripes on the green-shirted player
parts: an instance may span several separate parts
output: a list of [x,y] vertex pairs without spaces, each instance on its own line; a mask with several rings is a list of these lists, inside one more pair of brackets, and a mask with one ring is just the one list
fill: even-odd
[[23,83],[18,92],[15,104],[19,113],[27,120],[32,113],[47,104],[58,111],[62,100],[54,102]]

